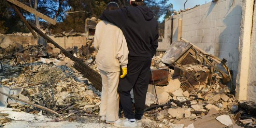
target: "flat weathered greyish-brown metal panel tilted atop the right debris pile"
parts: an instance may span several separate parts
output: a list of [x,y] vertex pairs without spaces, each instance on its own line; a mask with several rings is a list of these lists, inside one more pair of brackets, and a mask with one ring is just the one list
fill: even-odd
[[191,44],[183,41],[174,41],[168,48],[165,54],[163,55],[161,61],[168,65],[171,65],[173,62],[178,60],[181,56],[183,56],[189,48],[191,48]]

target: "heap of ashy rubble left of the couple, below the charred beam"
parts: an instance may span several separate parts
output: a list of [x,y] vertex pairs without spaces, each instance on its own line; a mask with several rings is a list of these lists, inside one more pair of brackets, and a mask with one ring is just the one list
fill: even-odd
[[[42,59],[41,61],[47,61]],[[0,106],[38,114],[41,109],[30,104],[34,103],[59,113],[61,118],[68,118],[76,113],[97,117],[101,93],[75,69],[55,64],[56,62],[30,62],[14,65],[8,59],[3,61],[0,91],[18,99],[2,95]],[[41,111],[41,114],[42,112],[52,115],[51,111]],[[73,119],[75,117],[72,116]]]

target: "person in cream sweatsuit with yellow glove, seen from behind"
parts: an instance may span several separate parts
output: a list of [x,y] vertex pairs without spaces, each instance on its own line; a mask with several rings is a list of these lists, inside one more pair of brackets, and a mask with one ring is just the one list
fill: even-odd
[[[115,2],[108,6],[119,8]],[[107,6],[107,9],[108,9]],[[94,48],[97,53],[96,64],[102,78],[100,116],[106,123],[116,123],[122,120],[118,117],[119,95],[117,93],[120,67],[123,78],[127,74],[128,47],[122,30],[114,24],[102,20],[96,26]],[[104,117],[105,116],[105,117]],[[105,118],[105,119],[104,119]]]

